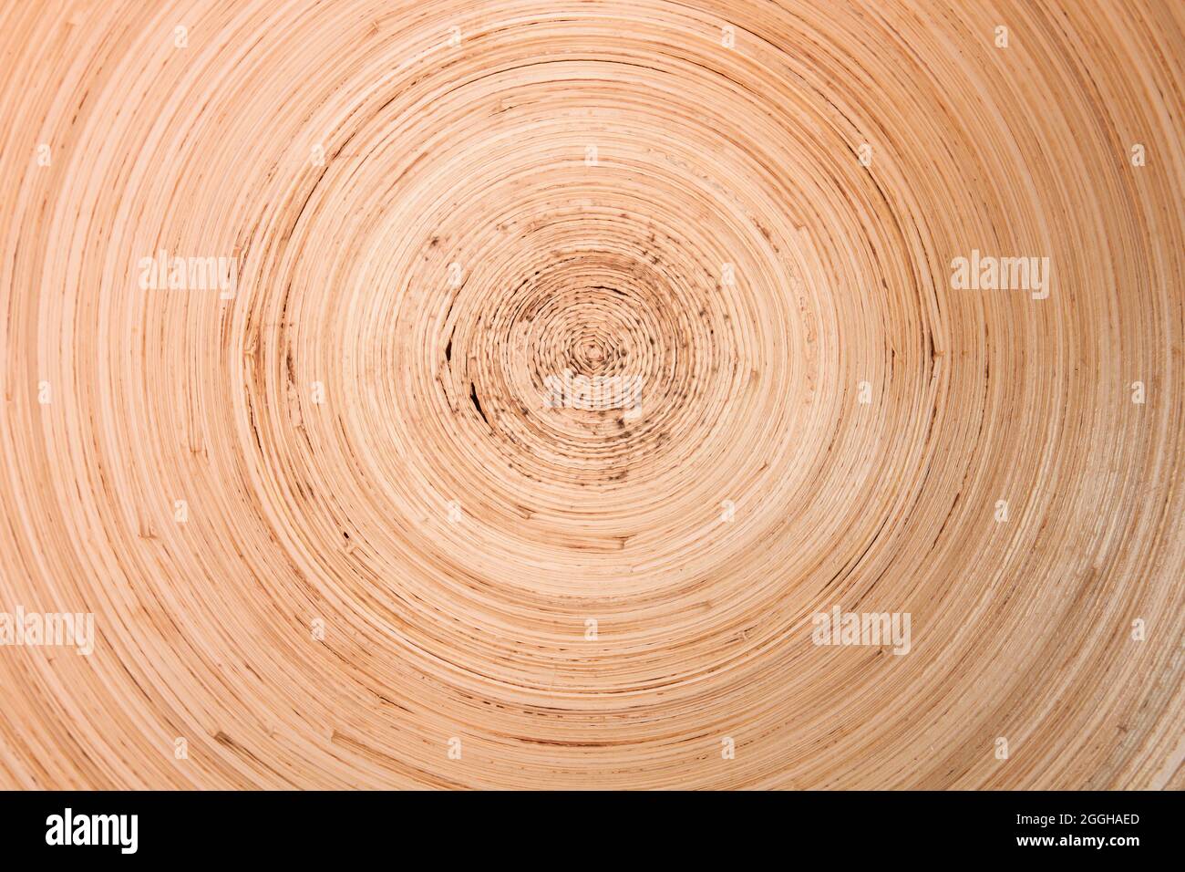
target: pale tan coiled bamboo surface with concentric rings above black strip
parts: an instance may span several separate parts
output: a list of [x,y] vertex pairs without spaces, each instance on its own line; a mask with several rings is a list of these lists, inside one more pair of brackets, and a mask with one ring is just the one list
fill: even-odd
[[1179,4],[0,23],[0,787],[1185,785]]

